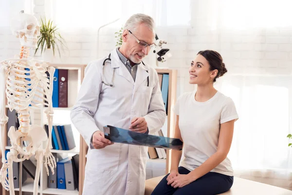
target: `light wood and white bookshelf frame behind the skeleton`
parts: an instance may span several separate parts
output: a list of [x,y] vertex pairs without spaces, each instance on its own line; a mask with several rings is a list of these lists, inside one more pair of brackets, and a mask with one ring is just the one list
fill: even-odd
[[[81,82],[84,78],[84,70],[85,70],[85,64],[50,64],[49,66],[55,67],[56,69],[67,69],[68,70],[68,107],[62,108],[62,107],[54,107],[54,117],[53,117],[53,124],[71,124],[74,134],[74,140],[76,147],[72,150],[51,150],[52,153],[57,153],[61,156],[74,156],[79,155],[79,191],[75,189],[74,191],[70,190],[63,190],[63,189],[55,189],[55,188],[48,188],[48,176],[47,171],[44,166],[41,167],[40,170],[40,186],[38,186],[38,194],[39,195],[82,195],[82,184],[83,184],[83,172],[84,172],[84,165],[83,165],[83,149],[84,146],[84,140],[80,136],[79,132],[74,128],[71,120],[70,120],[70,111],[73,108],[73,105],[75,103],[77,93],[79,91]],[[7,99],[6,104],[7,105]],[[42,127],[44,127],[45,124],[48,124],[46,114],[44,113],[46,107],[39,106],[38,109],[30,109],[30,112],[32,113],[32,124],[37,124]],[[8,112],[8,106],[5,108],[6,116]],[[40,118],[37,118],[35,120],[34,115],[35,112],[39,113]],[[34,121],[37,121],[37,123],[34,123]],[[7,135],[7,128],[5,125],[5,135]],[[4,137],[4,144],[5,149],[9,150],[10,146],[7,146],[7,137]],[[43,143],[43,148],[45,148],[46,143]],[[4,154],[3,154],[4,157]],[[32,160],[35,160],[35,157],[32,156]],[[56,174],[56,173],[55,173]],[[28,179],[22,184],[21,191],[31,193],[34,189],[34,180],[33,178],[28,177]],[[15,188],[15,191],[19,191],[19,188]],[[2,188],[2,194],[3,195],[9,195],[9,192],[4,190]]]

